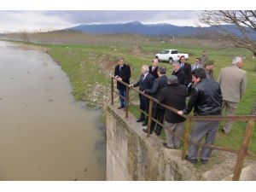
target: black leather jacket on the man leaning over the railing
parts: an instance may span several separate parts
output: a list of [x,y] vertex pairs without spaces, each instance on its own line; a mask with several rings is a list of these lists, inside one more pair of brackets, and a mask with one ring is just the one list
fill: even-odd
[[188,114],[193,108],[195,115],[221,114],[222,94],[216,81],[201,79],[200,82],[195,84],[187,108],[183,110],[183,113]]

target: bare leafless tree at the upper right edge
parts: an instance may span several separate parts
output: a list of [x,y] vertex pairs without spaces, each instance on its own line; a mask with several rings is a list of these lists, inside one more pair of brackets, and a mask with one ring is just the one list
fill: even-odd
[[[249,49],[256,56],[255,10],[204,11],[200,15],[200,20],[208,26],[214,26],[214,35],[218,38],[229,41],[237,48]],[[256,114],[256,96],[251,113]]]

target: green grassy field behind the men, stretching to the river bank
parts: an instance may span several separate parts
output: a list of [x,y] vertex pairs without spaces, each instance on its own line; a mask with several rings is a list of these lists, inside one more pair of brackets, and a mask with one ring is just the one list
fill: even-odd
[[[83,100],[90,106],[102,104],[101,94],[97,94],[98,100],[94,101],[95,96],[91,95],[96,84],[106,86],[106,91],[110,86],[110,75],[113,71],[114,61],[117,57],[123,56],[125,62],[131,65],[131,82],[139,78],[140,67],[144,64],[150,65],[154,54],[161,49],[179,49],[180,52],[189,53],[189,62],[193,63],[195,57],[201,56],[201,51],[207,49],[208,59],[215,61],[214,77],[218,78],[218,72],[222,67],[230,66],[233,56],[244,55],[246,61],[244,69],[247,71],[247,91],[241,100],[237,114],[249,114],[253,105],[253,99],[256,95],[256,73],[254,71],[256,62],[253,55],[246,49],[228,48],[224,49],[212,41],[209,44],[202,44],[203,40],[197,44],[191,41],[186,43],[160,43],[160,42],[140,42],[133,44],[44,44],[48,48],[48,54],[57,61],[62,69],[69,76],[73,85],[73,95],[77,100]],[[195,44],[194,44],[195,43]],[[167,68],[167,74],[172,73],[172,67],[168,63],[160,63],[160,66]],[[106,73],[107,72],[107,73]],[[107,91],[107,93],[109,92]],[[131,93],[131,100],[137,101],[137,93]],[[138,115],[136,108],[131,108],[131,113]],[[244,122],[236,122],[230,135],[224,135],[218,131],[216,143],[219,146],[229,148],[239,148],[246,124]],[[164,135],[163,135],[164,137]],[[253,131],[253,137],[250,143],[250,150],[256,152],[256,131]]]

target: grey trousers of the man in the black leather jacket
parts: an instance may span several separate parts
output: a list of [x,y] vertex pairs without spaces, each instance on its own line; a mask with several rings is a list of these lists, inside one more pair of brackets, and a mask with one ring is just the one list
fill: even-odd
[[[194,129],[190,136],[190,141],[200,143],[206,137],[207,144],[213,144],[218,131],[218,121],[195,121]],[[189,160],[197,159],[198,146],[189,145]],[[208,160],[212,154],[212,148],[204,147],[201,150],[201,160]]]

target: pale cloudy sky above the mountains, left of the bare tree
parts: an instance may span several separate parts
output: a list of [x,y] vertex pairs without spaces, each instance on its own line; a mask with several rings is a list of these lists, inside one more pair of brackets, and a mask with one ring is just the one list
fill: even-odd
[[198,26],[198,11],[0,11],[0,32],[54,30],[79,24],[170,23]]

